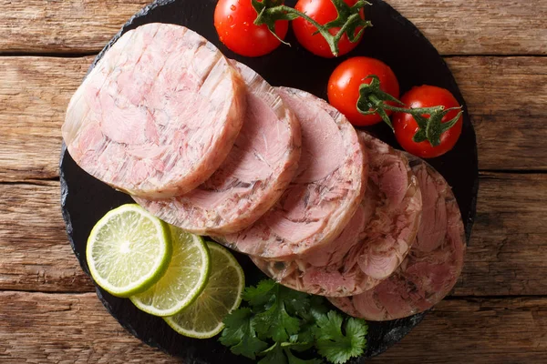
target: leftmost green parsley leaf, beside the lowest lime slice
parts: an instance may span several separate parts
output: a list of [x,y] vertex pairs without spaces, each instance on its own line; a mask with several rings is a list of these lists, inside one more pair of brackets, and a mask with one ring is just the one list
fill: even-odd
[[232,347],[232,353],[255,359],[256,354],[268,347],[263,340],[256,337],[251,324],[253,313],[249,308],[239,308],[233,311],[226,319],[220,341],[222,345]]

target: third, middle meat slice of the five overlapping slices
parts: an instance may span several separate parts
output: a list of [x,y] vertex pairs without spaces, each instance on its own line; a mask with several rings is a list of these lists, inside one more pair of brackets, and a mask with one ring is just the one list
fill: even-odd
[[346,117],[304,91],[278,88],[300,120],[302,157],[279,201],[252,227],[219,240],[246,254],[286,260],[326,246],[365,192],[365,152]]

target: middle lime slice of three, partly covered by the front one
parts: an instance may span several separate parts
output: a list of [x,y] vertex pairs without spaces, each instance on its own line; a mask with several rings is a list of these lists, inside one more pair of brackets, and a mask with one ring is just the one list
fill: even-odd
[[198,298],[209,278],[209,250],[201,237],[170,227],[173,256],[156,284],[131,296],[138,308],[154,316],[171,316]]

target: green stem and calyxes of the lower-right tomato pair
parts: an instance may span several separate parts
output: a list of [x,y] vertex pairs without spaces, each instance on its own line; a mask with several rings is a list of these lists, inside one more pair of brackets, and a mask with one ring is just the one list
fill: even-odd
[[[357,100],[357,110],[359,113],[363,115],[378,114],[391,129],[393,129],[393,125],[387,115],[387,110],[410,114],[418,124],[418,131],[413,136],[413,140],[416,143],[428,140],[431,146],[439,146],[440,136],[452,126],[455,126],[458,123],[459,117],[463,114],[461,107],[407,107],[396,97],[380,89],[380,79],[378,76],[370,75],[363,80],[366,79],[370,79],[371,82],[369,84],[363,83],[359,86],[359,99]],[[389,102],[398,106],[387,104]],[[459,110],[458,116],[443,123],[442,119],[454,110]]]

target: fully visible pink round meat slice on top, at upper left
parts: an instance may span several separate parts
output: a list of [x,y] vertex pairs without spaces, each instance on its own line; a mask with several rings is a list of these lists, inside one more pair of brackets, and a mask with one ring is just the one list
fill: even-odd
[[90,175],[171,197],[219,167],[243,125],[245,86],[206,39],[179,25],[122,35],[72,96],[63,138]]

